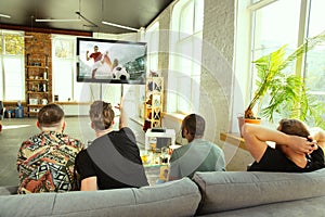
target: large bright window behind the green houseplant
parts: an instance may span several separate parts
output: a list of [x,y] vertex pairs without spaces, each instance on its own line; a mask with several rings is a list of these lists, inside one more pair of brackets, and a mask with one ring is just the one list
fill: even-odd
[[[261,0],[249,7],[252,15],[251,61],[287,44],[288,53],[325,30],[324,0]],[[289,72],[306,77],[311,93],[325,101],[325,43],[309,52],[304,62],[292,64]],[[300,65],[300,66],[299,66]],[[253,87],[256,72],[251,65]],[[253,91],[253,88],[252,88]],[[251,92],[253,93],[253,92]]]

